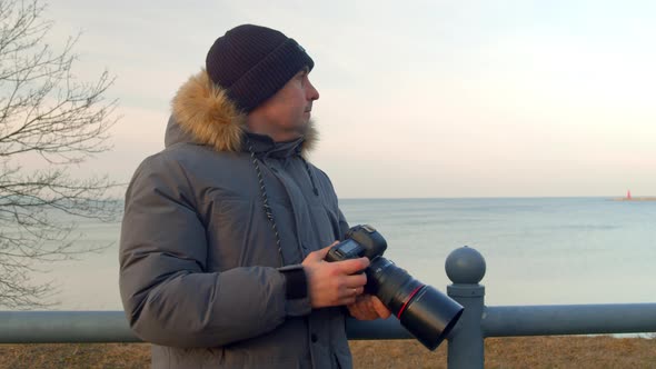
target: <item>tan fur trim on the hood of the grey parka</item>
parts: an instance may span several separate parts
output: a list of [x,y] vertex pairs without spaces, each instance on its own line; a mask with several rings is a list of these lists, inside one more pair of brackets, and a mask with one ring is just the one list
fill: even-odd
[[[185,82],[171,102],[172,114],[165,143],[195,142],[217,151],[238,152],[246,149],[249,134],[246,114],[215,86],[205,69]],[[306,136],[299,140],[304,153],[312,149],[317,131],[310,121]],[[272,142],[272,141],[271,141]]]

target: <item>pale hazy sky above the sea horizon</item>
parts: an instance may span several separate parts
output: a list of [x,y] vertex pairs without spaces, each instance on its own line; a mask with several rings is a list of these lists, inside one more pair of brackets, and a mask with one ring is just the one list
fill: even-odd
[[315,60],[310,160],[340,198],[656,196],[654,1],[51,1],[73,72],[108,70],[128,182],[216,38],[278,29]]

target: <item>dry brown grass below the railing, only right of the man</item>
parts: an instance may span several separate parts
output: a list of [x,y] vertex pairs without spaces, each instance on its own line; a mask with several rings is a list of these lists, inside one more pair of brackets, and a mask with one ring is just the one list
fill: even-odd
[[[447,345],[435,352],[414,340],[351,341],[356,368],[446,368]],[[486,368],[656,368],[656,340],[612,337],[489,338]]]

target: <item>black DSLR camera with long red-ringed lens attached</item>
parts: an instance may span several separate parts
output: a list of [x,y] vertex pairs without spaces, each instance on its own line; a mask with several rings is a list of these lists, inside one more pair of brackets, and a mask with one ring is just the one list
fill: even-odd
[[356,226],[346,239],[334,246],[326,261],[367,257],[370,265],[365,292],[378,299],[394,313],[413,336],[429,350],[435,350],[448,336],[460,316],[463,306],[413,278],[391,260],[382,257],[387,241],[374,227]]

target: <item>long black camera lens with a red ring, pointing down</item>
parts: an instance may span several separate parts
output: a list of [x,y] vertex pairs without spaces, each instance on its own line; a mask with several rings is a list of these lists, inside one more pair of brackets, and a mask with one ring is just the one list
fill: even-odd
[[374,259],[366,273],[367,292],[376,295],[401,326],[430,350],[448,336],[463,313],[458,302],[386,258]]

